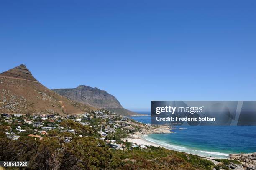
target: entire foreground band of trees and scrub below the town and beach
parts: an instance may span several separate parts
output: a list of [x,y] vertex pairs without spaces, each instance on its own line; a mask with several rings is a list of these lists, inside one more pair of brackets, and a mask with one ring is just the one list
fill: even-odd
[[56,137],[34,140],[0,139],[0,161],[29,161],[31,170],[210,170],[212,162],[161,147],[110,150],[102,140],[74,137],[68,143]]

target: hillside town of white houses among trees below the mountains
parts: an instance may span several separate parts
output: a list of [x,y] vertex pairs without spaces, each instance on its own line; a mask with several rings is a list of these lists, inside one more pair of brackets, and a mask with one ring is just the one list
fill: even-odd
[[[150,124],[139,123],[107,110],[65,116],[58,114],[0,114],[0,125],[6,127],[6,137],[12,140],[17,140],[20,136],[42,140],[53,132],[66,132],[67,136],[63,136],[65,142],[70,142],[70,134],[83,137],[74,128],[64,127],[63,124],[67,121],[74,121],[82,126],[90,127],[93,136],[103,140],[110,148],[120,150],[127,150],[127,146],[128,149],[146,148],[146,145],[123,141],[123,138],[125,139],[129,134],[139,134],[143,130],[144,134],[147,134],[147,130],[151,131]],[[139,126],[142,128],[138,129]],[[165,129],[166,131],[169,130]]]

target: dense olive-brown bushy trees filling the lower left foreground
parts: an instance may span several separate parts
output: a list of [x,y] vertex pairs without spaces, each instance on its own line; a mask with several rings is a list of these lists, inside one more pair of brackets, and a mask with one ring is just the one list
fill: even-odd
[[0,160],[29,161],[31,170],[95,170],[115,165],[104,142],[93,137],[74,137],[69,143],[62,143],[56,137],[43,140],[1,138]]

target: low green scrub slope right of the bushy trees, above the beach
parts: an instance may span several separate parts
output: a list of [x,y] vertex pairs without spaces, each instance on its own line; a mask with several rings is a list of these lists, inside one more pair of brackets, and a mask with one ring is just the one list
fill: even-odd
[[202,157],[150,146],[148,149],[113,150],[123,169],[154,170],[212,170],[214,164]]

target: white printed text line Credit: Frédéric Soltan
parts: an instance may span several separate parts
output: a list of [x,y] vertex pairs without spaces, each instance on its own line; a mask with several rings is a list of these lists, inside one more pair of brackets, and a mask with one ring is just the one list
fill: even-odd
[[187,117],[187,116],[182,116],[182,117],[179,117],[179,116],[176,116],[175,118],[174,117],[171,117],[171,116],[168,116],[168,117],[156,117],[156,121],[215,121],[215,117]]

